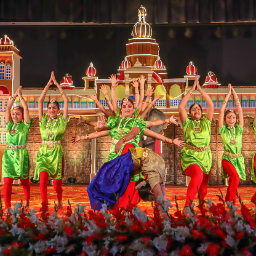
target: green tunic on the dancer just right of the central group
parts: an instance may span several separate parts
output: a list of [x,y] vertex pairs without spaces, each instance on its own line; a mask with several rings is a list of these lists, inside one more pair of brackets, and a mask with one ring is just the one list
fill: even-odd
[[[193,124],[194,122],[194,124]],[[184,130],[184,140],[188,145],[205,148],[210,144],[210,124],[212,121],[202,116],[200,122],[200,132],[194,131],[194,126],[198,127],[199,122],[192,121],[191,116],[188,116],[185,122],[182,123]],[[180,160],[182,163],[182,174],[186,175],[184,170],[191,166],[191,164],[198,164],[202,172],[209,174],[210,167],[212,167],[212,152],[209,150],[195,151],[183,146],[180,152]]]

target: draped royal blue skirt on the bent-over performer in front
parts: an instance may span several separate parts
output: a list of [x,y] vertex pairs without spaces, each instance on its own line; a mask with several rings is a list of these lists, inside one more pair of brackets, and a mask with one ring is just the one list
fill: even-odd
[[134,162],[130,152],[105,162],[87,186],[90,207],[94,209],[95,203],[97,204],[96,210],[102,209],[104,203],[108,207],[114,206],[116,196],[121,198],[134,172]]

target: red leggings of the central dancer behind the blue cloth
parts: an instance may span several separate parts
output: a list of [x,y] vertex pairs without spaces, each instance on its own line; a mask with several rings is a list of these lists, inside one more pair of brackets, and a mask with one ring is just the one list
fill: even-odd
[[[127,143],[124,148],[122,149],[122,154],[128,153],[128,148],[135,148],[134,145],[131,143]],[[137,205],[138,204],[138,190],[135,190],[135,183],[136,182],[130,182],[127,186],[126,192],[124,192],[123,196],[119,198],[119,206],[125,207],[127,206],[128,202],[131,200],[132,204]],[[130,196],[130,199],[129,199]]]

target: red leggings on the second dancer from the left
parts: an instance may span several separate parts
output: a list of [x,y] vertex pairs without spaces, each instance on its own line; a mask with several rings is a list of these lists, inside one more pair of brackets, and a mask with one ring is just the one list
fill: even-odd
[[[61,180],[54,180],[54,190],[57,193],[58,201],[62,200],[62,179]],[[48,172],[40,172],[40,193],[42,202],[47,202],[47,183],[48,183]]]

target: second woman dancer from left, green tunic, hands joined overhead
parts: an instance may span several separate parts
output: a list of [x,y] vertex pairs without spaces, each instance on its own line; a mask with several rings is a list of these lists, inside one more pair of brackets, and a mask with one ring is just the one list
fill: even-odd
[[[60,106],[56,100],[50,100],[47,103],[47,113],[43,114],[43,103],[47,90],[52,84],[58,87],[64,101],[64,110],[60,113]],[[57,193],[58,208],[62,208],[62,172],[64,169],[63,150],[60,140],[65,132],[68,124],[68,97],[55,79],[54,72],[50,77],[42,94],[38,100],[39,111],[39,127],[42,136],[42,144],[40,145],[38,155],[36,156],[36,170],[34,171],[34,180],[40,178],[40,193],[42,203],[48,204],[47,199],[47,182],[54,179],[54,189]]]

